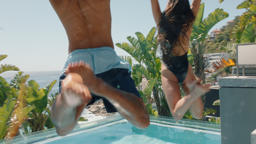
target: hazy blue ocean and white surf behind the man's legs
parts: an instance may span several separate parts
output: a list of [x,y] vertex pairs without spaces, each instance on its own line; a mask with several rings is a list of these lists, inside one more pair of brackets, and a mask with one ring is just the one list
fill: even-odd
[[[0,76],[3,77],[9,83],[9,82],[11,82],[12,77],[17,73],[18,73],[18,71],[6,71],[3,73],[0,73]],[[52,93],[55,91],[59,91],[59,77],[60,77],[61,73],[62,73],[62,70],[58,70],[58,71],[27,71],[27,72],[24,72],[23,75],[29,74],[30,77],[27,81],[30,81],[32,79],[35,80],[39,84],[39,86],[40,86],[39,88],[44,88],[50,82],[57,80],[57,82],[55,83],[55,85],[53,86],[53,88],[50,92],[50,93]],[[92,122],[92,121],[99,120],[99,119],[104,119],[103,116],[95,116],[87,109],[84,109],[81,116],[88,119],[88,121],[79,122],[79,124],[86,123],[86,122]]]

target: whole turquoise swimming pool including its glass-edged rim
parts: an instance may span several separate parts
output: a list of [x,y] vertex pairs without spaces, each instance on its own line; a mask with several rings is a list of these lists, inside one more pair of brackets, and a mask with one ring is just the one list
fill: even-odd
[[150,126],[137,129],[121,116],[77,125],[71,134],[59,137],[55,128],[39,131],[0,144],[221,144],[220,125],[168,117],[150,117]]

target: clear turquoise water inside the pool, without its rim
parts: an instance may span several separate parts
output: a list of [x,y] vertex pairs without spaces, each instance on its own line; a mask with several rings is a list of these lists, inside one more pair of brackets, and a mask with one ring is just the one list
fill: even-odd
[[216,132],[209,133],[209,131],[163,125],[153,122],[151,122],[151,125],[146,129],[137,129],[133,125],[131,125],[131,123],[125,120],[124,122],[104,125],[89,131],[80,131],[78,133],[72,134],[71,136],[60,137],[60,139],[45,143],[217,144],[221,143],[221,137],[218,134],[219,133]]

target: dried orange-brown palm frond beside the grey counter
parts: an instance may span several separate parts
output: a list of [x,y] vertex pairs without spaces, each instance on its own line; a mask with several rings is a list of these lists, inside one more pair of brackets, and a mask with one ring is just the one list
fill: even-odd
[[223,67],[229,67],[229,66],[234,66],[236,65],[235,62],[232,59],[228,59],[229,62],[225,61],[224,58],[221,58],[220,61],[216,61],[217,64],[212,63],[212,66],[214,67],[213,69],[209,69],[209,70],[204,70],[207,73],[212,73],[215,72],[216,70],[219,70]]

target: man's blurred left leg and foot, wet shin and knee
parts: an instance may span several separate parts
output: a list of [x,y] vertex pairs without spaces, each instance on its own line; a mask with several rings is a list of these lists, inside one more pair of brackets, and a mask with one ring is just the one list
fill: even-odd
[[[52,104],[51,117],[57,133],[60,136],[65,136],[74,129],[92,97],[89,89],[83,85],[83,79],[77,73],[69,73],[61,84],[61,92]],[[70,105],[72,102],[65,98],[70,95],[81,98],[82,103],[77,106]]]

